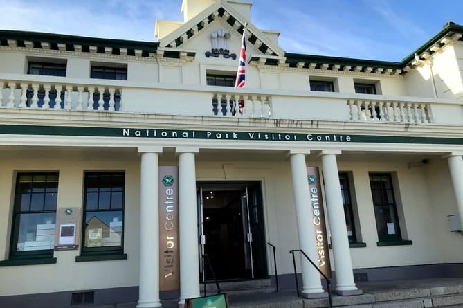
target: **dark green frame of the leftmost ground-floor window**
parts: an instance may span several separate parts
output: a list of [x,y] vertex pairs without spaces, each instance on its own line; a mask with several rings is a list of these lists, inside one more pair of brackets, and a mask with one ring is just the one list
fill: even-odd
[[[19,217],[18,215],[28,215],[28,214],[37,214],[37,213],[46,213],[50,214],[51,216],[54,215],[55,217],[55,232],[56,232],[56,210],[57,210],[57,203],[55,205],[55,210],[19,210],[19,183],[21,176],[32,176],[32,181],[30,182],[31,184],[31,192],[30,194],[39,194],[37,192],[33,192],[33,183],[34,183],[34,176],[46,176],[46,179],[48,179],[48,176],[57,176],[57,181],[56,181],[56,199],[58,196],[58,185],[60,183],[60,174],[59,172],[18,172],[16,174],[16,183],[15,183],[15,194],[14,194],[14,203],[13,203],[13,212],[12,212],[12,221],[11,221],[11,234],[10,234],[10,252],[9,252],[9,260],[31,260],[31,259],[51,259],[53,258],[54,255],[54,247],[52,249],[40,249],[40,250],[31,250],[31,251],[18,251],[17,250],[17,244],[18,244],[18,237],[19,237]],[[47,181],[45,181],[46,183]],[[49,182],[49,183],[55,183]],[[48,188],[49,189],[49,188]],[[47,188],[44,188],[43,194],[46,194]],[[31,198],[32,199],[32,198]],[[30,203],[32,202],[31,200],[29,201]],[[45,207],[46,203],[46,198],[44,196],[44,205]],[[29,205],[30,207],[30,205]]]

